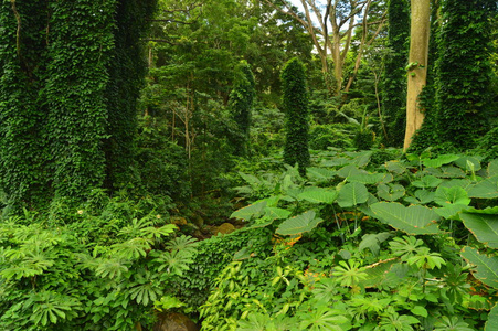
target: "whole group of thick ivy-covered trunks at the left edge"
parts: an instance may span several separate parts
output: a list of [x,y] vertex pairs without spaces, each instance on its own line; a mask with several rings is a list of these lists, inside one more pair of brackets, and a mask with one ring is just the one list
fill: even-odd
[[[1,186],[8,206],[19,212],[54,196],[81,201],[106,177],[116,184],[115,163],[124,175],[129,169],[144,73],[138,42],[155,1],[1,6]],[[105,139],[121,159],[106,156]]]

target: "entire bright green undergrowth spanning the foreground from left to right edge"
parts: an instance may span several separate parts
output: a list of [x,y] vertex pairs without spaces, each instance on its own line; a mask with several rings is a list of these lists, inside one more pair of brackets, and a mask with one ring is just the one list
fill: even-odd
[[246,226],[202,242],[170,201],[102,192],[4,220],[0,329],[146,329],[182,310],[202,330],[496,330],[498,160],[394,153],[240,173]]

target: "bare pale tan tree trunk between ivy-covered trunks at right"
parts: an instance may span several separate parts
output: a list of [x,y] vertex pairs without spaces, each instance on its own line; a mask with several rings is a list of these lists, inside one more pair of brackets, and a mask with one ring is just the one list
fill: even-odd
[[406,131],[403,149],[410,147],[413,135],[424,121],[424,111],[420,107],[418,96],[426,84],[428,36],[430,36],[430,0],[412,0],[410,60],[406,96]]

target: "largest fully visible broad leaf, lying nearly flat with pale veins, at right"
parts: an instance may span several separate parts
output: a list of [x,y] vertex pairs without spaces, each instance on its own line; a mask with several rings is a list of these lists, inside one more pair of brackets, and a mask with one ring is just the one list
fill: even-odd
[[422,205],[404,205],[395,202],[379,202],[370,206],[382,222],[411,235],[441,234],[437,227],[439,216]]

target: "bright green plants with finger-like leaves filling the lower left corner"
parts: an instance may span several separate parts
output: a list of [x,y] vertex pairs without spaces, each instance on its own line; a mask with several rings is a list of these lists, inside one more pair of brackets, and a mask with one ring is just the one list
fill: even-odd
[[151,327],[155,301],[167,307],[160,298],[178,293],[172,284],[189,270],[198,245],[184,235],[169,238],[177,226],[155,207],[104,195],[81,206],[70,225],[47,229],[29,213],[2,221],[0,329]]

